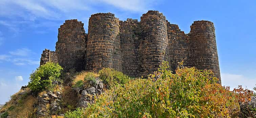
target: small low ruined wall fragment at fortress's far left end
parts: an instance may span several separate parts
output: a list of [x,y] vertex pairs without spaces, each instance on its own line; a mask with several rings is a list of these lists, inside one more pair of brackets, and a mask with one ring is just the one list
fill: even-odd
[[40,66],[44,65],[46,62],[54,62],[54,63],[58,62],[55,51],[50,51],[48,49],[45,49],[43,51],[40,59]]

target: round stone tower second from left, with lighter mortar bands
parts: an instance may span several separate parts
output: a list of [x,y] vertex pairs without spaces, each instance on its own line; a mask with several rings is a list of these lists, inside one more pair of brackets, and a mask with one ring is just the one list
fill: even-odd
[[119,19],[112,13],[91,15],[88,26],[86,70],[103,67],[121,71]]

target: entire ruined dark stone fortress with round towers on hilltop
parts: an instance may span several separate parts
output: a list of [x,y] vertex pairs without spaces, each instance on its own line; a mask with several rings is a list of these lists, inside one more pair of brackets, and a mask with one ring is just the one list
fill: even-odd
[[215,28],[210,21],[194,21],[188,34],[170,24],[159,11],[148,11],[141,21],[120,21],[112,13],[96,13],[89,19],[88,34],[78,20],[66,20],[59,28],[56,51],[45,49],[40,65],[58,62],[64,70],[98,71],[114,68],[126,75],[146,76],[168,61],[210,69],[220,80]]

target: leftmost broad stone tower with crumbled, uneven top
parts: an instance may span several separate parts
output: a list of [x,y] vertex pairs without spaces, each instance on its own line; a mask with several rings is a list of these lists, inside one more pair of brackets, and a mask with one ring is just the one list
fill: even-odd
[[59,28],[56,53],[64,70],[84,70],[86,36],[84,24],[77,20],[66,20]]

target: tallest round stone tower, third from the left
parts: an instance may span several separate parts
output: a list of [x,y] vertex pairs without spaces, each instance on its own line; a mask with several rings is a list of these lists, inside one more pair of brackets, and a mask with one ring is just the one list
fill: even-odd
[[141,75],[157,70],[168,45],[166,18],[159,11],[148,11],[141,17]]

